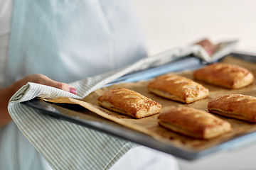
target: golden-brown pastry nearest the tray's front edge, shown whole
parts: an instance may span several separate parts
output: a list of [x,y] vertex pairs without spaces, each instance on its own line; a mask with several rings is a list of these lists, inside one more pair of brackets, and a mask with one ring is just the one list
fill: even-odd
[[231,130],[227,121],[190,107],[171,109],[161,113],[158,119],[164,128],[201,139],[210,139]]

